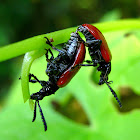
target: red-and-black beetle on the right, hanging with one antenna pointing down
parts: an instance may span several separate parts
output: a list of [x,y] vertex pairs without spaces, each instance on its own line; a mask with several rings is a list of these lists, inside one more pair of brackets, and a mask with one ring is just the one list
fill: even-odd
[[101,72],[98,84],[102,85],[106,83],[116,98],[117,102],[119,103],[119,106],[121,107],[122,105],[120,100],[118,99],[115,91],[109,85],[112,83],[112,81],[108,82],[108,75],[111,72],[112,55],[105,37],[99,31],[99,29],[97,29],[95,26],[92,26],[91,24],[80,25],[76,30],[76,33],[77,32],[81,32],[85,36],[85,45],[88,47],[89,55],[92,60],[86,60],[85,62],[88,64],[78,64],[77,66],[97,66],[97,70]]

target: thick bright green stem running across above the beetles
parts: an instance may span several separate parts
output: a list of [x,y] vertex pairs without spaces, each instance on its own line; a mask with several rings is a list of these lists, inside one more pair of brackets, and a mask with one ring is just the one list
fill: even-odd
[[[140,20],[125,19],[93,25],[99,28],[101,32],[105,33],[110,31],[140,29]],[[0,48],[0,62],[20,56],[22,54],[25,54],[26,52],[46,48],[47,45],[44,41],[44,37],[46,36],[55,40],[54,45],[64,43],[69,39],[70,33],[74,32],[76,28],[77,27],[73,27],[48,34],[38,35],[17,43],[4,46]]]

